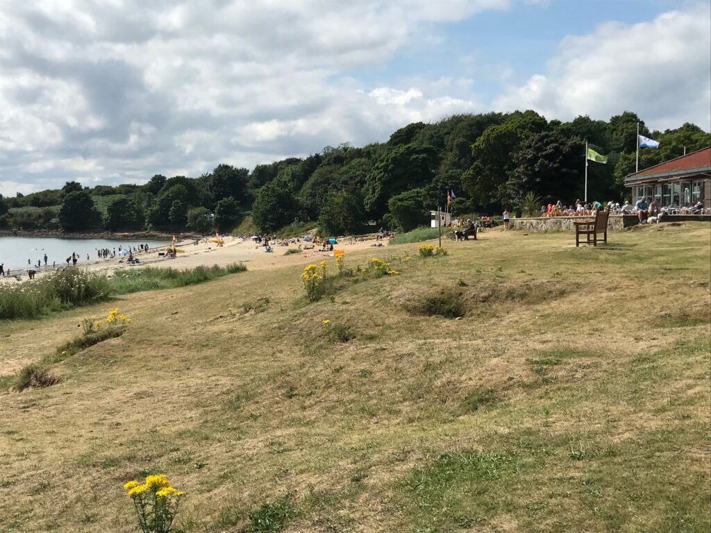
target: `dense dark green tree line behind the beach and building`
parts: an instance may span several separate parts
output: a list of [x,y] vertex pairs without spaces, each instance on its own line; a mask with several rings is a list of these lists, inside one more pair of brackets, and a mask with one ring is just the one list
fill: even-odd
[[[623,179],[634,172],[638,123],[641,134],[660,142],[641,151],[640,168],[711,144],[711,134],[694,124],[649,131],[632,112],[608,122],[547,121],[533,111],[456,115],[409,124],[385,143],[328,146],[251,172],[220,164],[199,178],[156,175],[145,185],[91,189],[68,182],[61,190],[0,197],[0,224],[31,225],[34,216],[48,226],[55,213],[67,231],[204,233],[229,232],[251,215],[263,232],[294,222],[317,222],[329,234],[361,232],[373,222],[410,230],[426,222],[427,210],[444,206],[447,190],[456,195],[455,213],[517,211],[527,193],[573,203],[584,193],[585,141],[608,156],[608,164],[588,167],[588,198],[621,200]],[[107,202],[102,212],[100,202]]]

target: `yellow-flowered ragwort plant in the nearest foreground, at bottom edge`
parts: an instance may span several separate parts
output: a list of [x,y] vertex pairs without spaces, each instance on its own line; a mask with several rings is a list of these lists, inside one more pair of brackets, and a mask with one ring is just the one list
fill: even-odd
[[129,481],[124,490],[134,502],[138,527],[143,533],[170,533],[183,492],[171,487],[165,475],[149,475],[146,483]]

